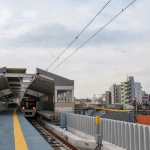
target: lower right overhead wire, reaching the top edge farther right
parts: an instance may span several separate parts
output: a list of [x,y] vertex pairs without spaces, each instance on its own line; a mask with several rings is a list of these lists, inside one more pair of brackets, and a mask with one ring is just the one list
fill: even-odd
[[[131,6],[136,0],[132,1],[128,6],[122,9],[115,17],[113,17],[108,23],[106,23],[101,29],[99,29],[95,34],[93,34],[88,40],[86,40],[81,46],[79,46],[73,53],[71,53],[66,59],[64,59],[59,65],[57,65],[52,71],[58,68],[62,63],[64,63],[69,57],[71,57],[75,52],[82,48],[87,42],[89,42],[94,36],[96,36],[100,31],[102,31],[107,25],[109,25],[114,19],[116,19],[123,11],[125,11],[129,6]],[[52,72],[51,71],[51,72]]]

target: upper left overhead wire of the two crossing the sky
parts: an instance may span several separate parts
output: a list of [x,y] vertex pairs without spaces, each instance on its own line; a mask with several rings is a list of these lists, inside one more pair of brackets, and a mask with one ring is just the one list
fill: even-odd
[[96,14],[96,16],[84,27],[84,29],[76,36],[76,38],[67,46],[67,48],[51,63],[51,65],[46,69],[46,71],[61,57],[61,55],[78,39],[78,37],[85,31],[85,29],[94,21],[94,19],[104,10],[104,8],[110,3],[107,2],[105,6]]

